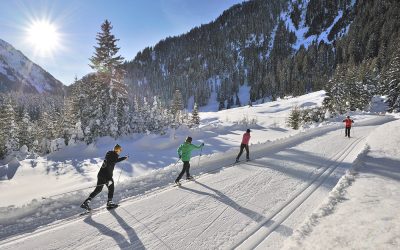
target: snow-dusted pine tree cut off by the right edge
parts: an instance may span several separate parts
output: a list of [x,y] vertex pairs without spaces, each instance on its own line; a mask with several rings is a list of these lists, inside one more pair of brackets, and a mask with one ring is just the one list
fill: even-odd
[[[400,42],[400,39],[398,39]],[[397,43],[398,45],[398,43]],[[384,79],[389,112],[400,112],[400,47],[397,47]]]

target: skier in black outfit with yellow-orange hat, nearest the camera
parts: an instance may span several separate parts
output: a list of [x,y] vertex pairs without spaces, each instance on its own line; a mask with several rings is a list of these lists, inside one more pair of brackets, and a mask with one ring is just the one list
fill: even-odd
[[86,210],[91,210],[89,203],[90,201],[98,195],[103,189],[103,185],[106,185],[108,188],[108,200],[107,200],[107,209],[115,208],[118,205],[112,201],[114,195],[114,180],[112,178],[114,166],[117,162],[128,159],[128,156],[119,157],[119,154],[122,152],[122,147],[120,145],[115,145],[113,151],[108,151],[106,157],[101,165],[100,171],[97,174],[97,186],[95,190],[89,195],[89,197],[82,203],[81,208]]

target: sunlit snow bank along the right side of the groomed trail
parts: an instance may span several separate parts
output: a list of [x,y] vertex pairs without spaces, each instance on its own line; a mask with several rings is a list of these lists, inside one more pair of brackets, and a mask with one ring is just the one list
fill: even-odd
[[287,249],[399,249],[399,126],[396,120],[368,136],[363,153]]

